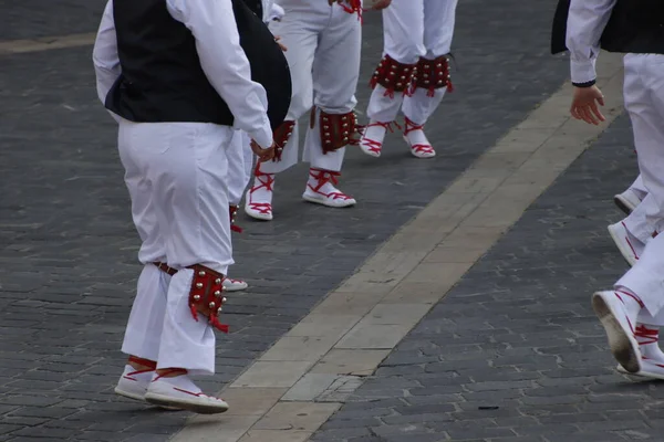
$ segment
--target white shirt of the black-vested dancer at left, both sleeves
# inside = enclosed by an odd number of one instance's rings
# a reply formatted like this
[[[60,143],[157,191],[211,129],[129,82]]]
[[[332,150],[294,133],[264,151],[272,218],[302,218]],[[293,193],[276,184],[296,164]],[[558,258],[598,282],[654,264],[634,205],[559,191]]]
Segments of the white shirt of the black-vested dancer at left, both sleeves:
[[[231,0],[165,0],[170,15],[196,39],[200,66],[245,130],[262,148],[272,145],[266,90],[251,81],[249,61],[240,46]],[[97,94],[104,102],[121,73],[113,0],[108,0],[94,44]]]

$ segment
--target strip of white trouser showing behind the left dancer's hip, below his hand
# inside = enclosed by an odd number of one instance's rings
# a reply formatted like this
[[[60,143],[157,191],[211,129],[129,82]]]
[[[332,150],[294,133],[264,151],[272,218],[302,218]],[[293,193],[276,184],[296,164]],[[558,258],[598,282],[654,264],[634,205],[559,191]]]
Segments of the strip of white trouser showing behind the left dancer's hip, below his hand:
[[[235,130],[228,149],[228,203],[239,206],[245,189],[251,179],[253,152],[251,138],[243,130]]]

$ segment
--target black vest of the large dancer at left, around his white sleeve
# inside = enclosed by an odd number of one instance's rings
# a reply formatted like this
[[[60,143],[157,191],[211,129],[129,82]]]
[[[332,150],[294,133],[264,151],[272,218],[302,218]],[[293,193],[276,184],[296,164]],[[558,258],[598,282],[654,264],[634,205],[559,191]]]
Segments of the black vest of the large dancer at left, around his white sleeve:
[[[243,0],[232,3],[251,78],[266,88],[276,128],[290,106],[288,63],[262,18]],[[122,74],[106,96],[106,108],[136,123],[234,124],[200,67],[194,35],[170,17],[165,0],[114,0],[113,15]]]

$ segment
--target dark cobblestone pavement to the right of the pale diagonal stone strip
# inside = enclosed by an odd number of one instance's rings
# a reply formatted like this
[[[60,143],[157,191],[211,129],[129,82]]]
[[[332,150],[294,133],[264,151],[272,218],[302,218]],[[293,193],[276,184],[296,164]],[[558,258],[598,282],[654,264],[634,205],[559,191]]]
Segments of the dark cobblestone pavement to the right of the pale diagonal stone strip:
[[[626,270],[605,227],[636,175],[620,117],[312,440],[662,440],[664,387],[614,371],[590,295]]]

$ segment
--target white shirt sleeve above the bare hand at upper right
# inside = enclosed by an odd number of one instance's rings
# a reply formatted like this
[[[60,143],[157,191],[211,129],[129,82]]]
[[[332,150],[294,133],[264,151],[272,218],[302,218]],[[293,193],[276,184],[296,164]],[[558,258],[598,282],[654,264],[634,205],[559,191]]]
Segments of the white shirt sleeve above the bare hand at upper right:
[[[596,80],[600,39],[616,0],[571,0],[567,27],[572,83]]]

